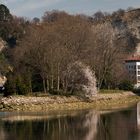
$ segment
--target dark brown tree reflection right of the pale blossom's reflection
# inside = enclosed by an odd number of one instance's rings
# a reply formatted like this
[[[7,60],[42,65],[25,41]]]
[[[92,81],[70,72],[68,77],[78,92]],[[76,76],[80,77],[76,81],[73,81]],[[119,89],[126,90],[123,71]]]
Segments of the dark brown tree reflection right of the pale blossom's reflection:
[[[132,140],[136,136],[136,111],[125,110],[100,116],[97,140]]]

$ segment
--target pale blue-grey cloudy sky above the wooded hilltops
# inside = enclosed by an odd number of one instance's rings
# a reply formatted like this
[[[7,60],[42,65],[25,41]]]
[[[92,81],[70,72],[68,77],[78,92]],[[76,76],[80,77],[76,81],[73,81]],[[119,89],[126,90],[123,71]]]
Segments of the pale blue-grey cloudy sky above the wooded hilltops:
[[[0,0],[16,16],[42,17],[45,11],[62,10],[70,14],[93,15],[97,11],[112,12],[120,8],[140,8],[140,0]]]

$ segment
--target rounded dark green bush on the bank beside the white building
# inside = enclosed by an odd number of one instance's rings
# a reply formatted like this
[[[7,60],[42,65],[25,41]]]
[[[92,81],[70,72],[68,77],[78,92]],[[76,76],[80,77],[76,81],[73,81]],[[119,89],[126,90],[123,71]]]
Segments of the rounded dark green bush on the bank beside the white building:
[[[133,84],[131,81],[129,80],[123,80],[120,84],[119,84],[119,89],[121,90],[133,90]]]

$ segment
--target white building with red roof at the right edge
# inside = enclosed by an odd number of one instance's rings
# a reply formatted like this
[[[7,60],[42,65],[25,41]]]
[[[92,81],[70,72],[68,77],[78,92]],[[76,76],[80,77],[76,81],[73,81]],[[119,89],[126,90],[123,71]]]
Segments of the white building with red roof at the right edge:
[[[125,60],[126,69],[135,88],[140,88],[140,56],[132,56]]]

